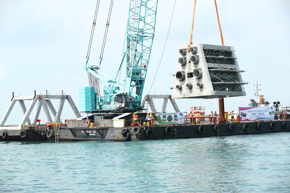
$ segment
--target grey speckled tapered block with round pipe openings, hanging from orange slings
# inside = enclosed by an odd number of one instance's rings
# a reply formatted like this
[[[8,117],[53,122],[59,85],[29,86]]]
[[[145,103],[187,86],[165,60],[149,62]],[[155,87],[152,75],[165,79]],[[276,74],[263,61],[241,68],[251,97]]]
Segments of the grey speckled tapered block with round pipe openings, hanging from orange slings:
[[[246,96],[241,72],[233,46],[180,46],[172,98]]]

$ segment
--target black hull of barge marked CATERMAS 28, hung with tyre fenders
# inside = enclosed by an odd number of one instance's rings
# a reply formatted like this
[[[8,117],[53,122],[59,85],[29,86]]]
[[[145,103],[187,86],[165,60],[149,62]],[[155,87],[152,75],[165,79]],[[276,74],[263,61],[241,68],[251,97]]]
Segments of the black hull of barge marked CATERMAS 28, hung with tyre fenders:
[[[62,127],[59,130],[59,140],[135,141],[234,136],[289,132],[289,125],[290,120],[277,120],[264,122],[154,126],[140,127],[139,129],[133,127]]]

